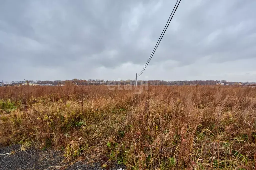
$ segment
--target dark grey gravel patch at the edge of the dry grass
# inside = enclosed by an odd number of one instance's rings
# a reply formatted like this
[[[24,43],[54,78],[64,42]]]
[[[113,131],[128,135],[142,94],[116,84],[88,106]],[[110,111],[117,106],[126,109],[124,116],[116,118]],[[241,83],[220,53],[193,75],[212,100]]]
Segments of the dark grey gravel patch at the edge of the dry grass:
[[[100,170],[100,163],[87,164],[63,162],[63,151],[29,149],[22,151],[20,145],[0,147],[0,169],[91,169]],[[124,166],[113,165],[106,169],[123,170]]]

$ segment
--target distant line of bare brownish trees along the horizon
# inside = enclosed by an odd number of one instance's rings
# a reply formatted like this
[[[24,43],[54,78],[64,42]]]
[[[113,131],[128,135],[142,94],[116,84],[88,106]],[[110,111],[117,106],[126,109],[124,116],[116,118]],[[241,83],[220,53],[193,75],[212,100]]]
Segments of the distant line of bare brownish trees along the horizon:
[[[226,80],[191,80],[191,81],[163,81],[163,80],[147,80],[147,81],[137,81],[137,85],[165,85],[165,86],[172,86],[172,85],[215,85],[216,82],[223,82],[224,84],[233,84],[235,82],[228,82]],[[125,85],[130,84],[134,85],[135,80],[100,80],[100,79],[89,79],[89,80],[82,80],[82,79],[72,79],[72,80],[24,80],[24,81],[13,81],[11,84],[22,84],[22,83],[38,83],[38,84],[52,84],[52,85],[65,85],[65,84],[77,84],[77,85]]]

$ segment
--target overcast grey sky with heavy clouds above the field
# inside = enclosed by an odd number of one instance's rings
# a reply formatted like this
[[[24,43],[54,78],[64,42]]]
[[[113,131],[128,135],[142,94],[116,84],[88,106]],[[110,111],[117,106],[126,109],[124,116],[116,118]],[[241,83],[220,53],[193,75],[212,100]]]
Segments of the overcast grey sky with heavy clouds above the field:
[[[134,79],[176,0],[1,0],[0,79]],[[182,0],[140,80],[256,81],[256,1]]]

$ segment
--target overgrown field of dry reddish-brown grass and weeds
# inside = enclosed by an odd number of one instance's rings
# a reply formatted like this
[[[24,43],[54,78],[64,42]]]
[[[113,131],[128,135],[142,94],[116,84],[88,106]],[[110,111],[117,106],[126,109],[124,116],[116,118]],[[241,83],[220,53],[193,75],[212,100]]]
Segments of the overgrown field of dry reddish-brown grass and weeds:
[[[256,89],[1,87],[0,143],[130,169],[254,169]],[[255,155],[256,156],[256,155]]]

